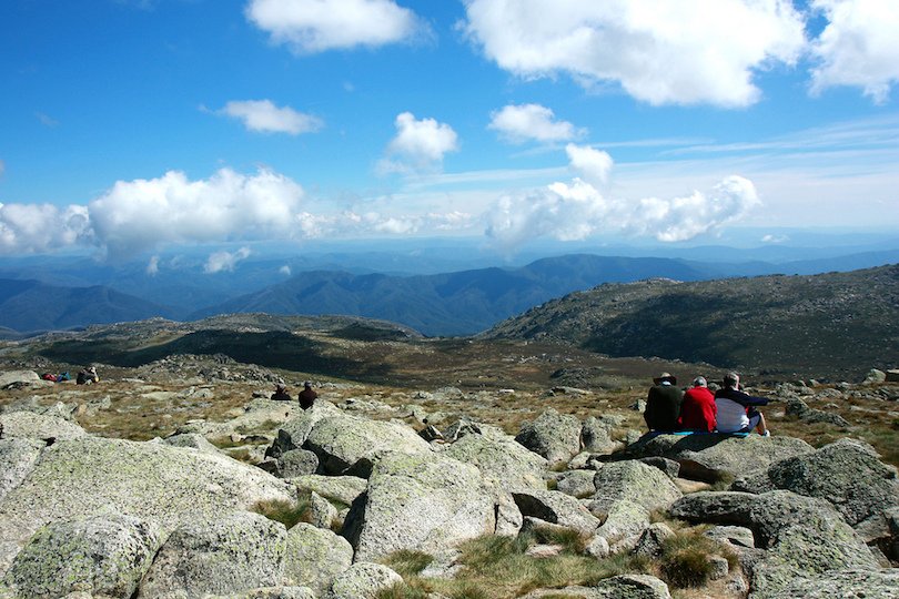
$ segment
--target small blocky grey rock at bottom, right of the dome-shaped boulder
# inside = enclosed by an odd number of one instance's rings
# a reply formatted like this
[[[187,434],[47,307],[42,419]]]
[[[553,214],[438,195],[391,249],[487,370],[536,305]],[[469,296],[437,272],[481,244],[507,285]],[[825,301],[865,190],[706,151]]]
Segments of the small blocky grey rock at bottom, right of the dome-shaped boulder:
[[[331,530],[300,522],[287,531],[283,582],[323,595],[353,564],[350,541]]]

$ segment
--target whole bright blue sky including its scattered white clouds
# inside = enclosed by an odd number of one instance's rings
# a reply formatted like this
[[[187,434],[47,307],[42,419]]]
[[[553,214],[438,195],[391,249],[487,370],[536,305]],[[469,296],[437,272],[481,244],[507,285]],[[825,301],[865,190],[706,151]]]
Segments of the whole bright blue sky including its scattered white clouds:
[[[896,31],[895,0],[9,0],[0,255],[895,229]]]

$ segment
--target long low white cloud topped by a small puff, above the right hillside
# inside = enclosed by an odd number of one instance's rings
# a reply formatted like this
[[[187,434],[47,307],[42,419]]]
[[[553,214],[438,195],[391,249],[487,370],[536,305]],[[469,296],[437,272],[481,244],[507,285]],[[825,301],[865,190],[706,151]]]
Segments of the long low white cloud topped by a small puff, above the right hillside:
[[[589,182],[605,181],[612,166],[612,160],[602,154],[569,145],[572,166],[584,172],[585,179],[501,197],[486,214],[487,236],[507,251],[536,237],[577,241],[598,233],[677,242],[734,222],[759,203],[752,183],[736,175],[709,193],[695,191],[679,197],[637,201],[606,197]],[[596,172],[587,172],[590,165]]]

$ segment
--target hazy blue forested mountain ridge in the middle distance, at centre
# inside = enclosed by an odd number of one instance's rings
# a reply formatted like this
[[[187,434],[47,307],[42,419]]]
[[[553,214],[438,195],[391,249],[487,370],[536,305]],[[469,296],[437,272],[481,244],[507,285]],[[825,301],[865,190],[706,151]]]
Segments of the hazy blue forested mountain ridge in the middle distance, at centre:
[[[194,313],[346,314],[402,323],[426,335],[468,335],[532,306],[603,282],[636,281],[666,273],[707,277],[701,268],[666,258],[568,255],[521,268],[481,268],[437,275],[304,273]]]

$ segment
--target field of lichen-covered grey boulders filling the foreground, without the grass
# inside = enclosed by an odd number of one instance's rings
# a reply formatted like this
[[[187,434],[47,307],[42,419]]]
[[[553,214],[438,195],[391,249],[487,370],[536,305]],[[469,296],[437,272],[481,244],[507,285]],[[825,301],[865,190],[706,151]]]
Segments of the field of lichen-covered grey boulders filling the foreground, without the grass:
[[[276,409],[255,402],[241,418]],[[899,479],[861,441],[626,444],[614,417],[549,409],[517,436],[465,422],[428,443],[326,400],[283,417],[249,465],[208,443],[222,425],[138,443],[55,413],[0,414],[0,598],[373,598],[402,582],[382,564],[397,550],[453,576],[466,540],[564,527],[597,560],[653,556],[674,535],[659,517],[708,525],[737,556],[733,597],[899,597]],[[261,515],[302,500],[311,522]],[[527,597],[559,595],[670,597],[636,573]]]

